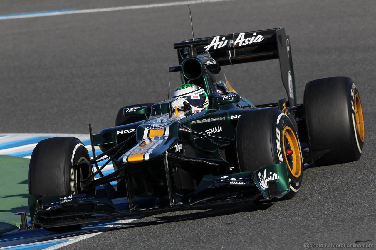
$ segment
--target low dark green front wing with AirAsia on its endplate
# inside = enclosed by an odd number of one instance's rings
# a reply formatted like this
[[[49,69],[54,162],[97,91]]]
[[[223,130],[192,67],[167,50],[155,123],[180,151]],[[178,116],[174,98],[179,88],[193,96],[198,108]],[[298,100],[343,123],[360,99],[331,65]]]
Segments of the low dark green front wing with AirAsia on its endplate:
[[[261,167],[254,172],[225,176],[206,175],[189,202],[165,207],[138,209],[138,206],[134,208],[128,203],[129,209],[124,210],[126,201],[119,206],[111,199],[100,195],[73,194],[65,197],[29,195],[32,223],[27,226],[23,221],[21,229],[34,230],[39,227],[61,227],[140,215],[205,209],[211,206],[253,202],[259,200],[261,196],[265,201],[281,198],[289,191],[287,164],[278,163]],[[128,197],[128,200],[132,199],[134,200],[134,197]],[[23,217],[26,217],[24,213],[21,214],[21,218]]]

